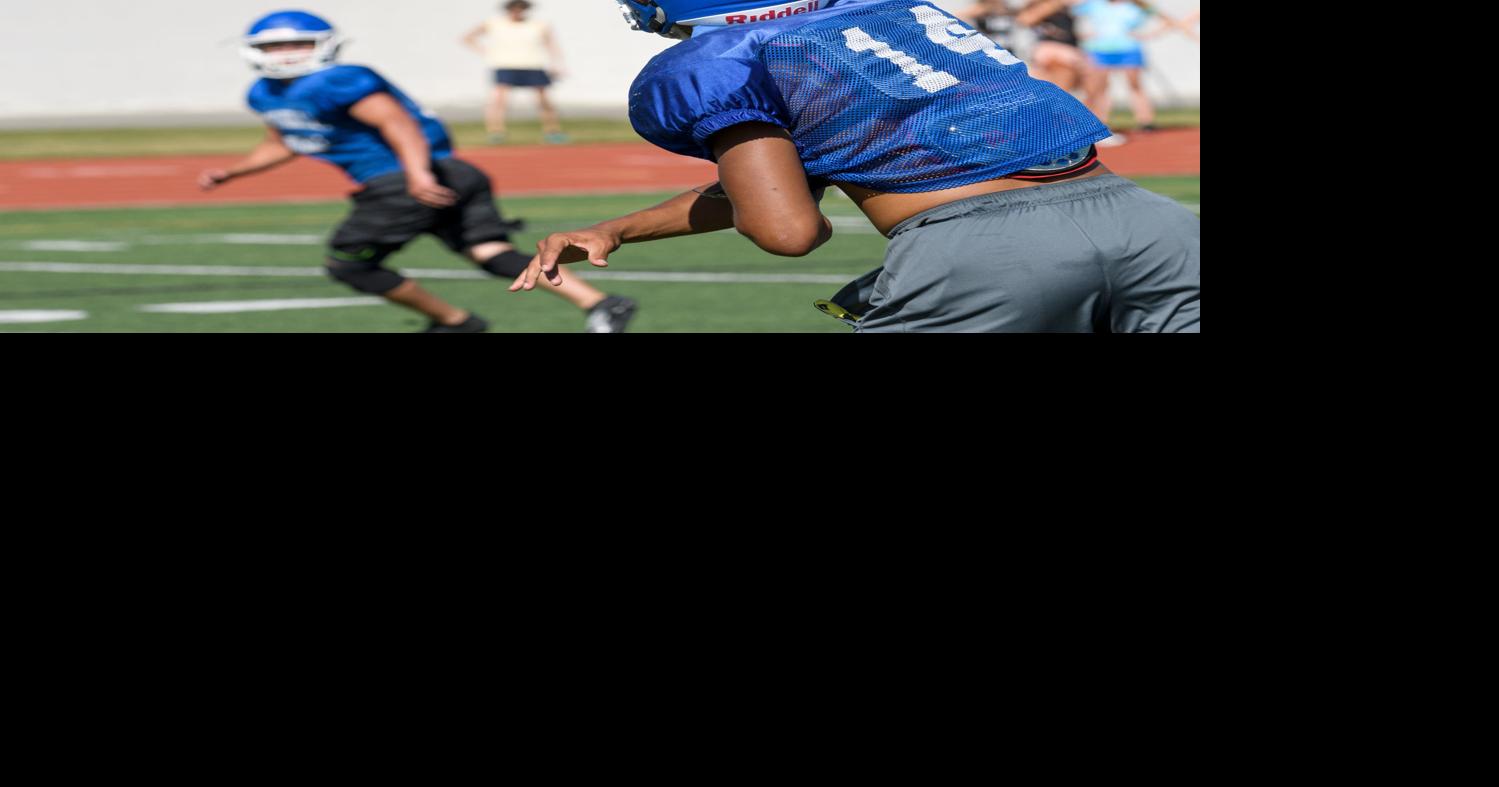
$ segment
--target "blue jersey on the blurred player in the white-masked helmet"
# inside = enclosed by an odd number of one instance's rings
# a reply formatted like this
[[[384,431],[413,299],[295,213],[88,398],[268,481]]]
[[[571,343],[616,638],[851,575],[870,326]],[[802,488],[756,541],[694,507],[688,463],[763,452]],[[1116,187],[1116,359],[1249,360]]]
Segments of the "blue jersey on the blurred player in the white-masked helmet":
[[[342,166],[358,183],[402,169],[379,129],[354,120],[349,108],[375,93],[390,93],[421,124],[432,157],[453,154],[448,129],[396,85],[364,66],[334,66],[297,79],[261,79],[250,87],[250,109],[280,130],[286,147]]]

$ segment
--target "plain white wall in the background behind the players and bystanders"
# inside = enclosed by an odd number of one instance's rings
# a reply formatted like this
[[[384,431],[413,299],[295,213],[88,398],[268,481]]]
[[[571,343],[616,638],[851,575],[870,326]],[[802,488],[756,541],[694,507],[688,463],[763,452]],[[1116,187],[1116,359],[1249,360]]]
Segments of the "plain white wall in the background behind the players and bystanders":
[[[622,114],[631,78],[669,40],[630,33],[613,0],[534,0],[558,30],[568,78],[558,102]],[[958,9],[967,0],[934,0]],[[304,7],[352,39],[345,60],[373,66],[447,117],[474,117],[487,90],[483,60],[459,37],[490,13],[481,0],[3,0],[0,127],[246,123],[252,76],[235,39],[258,15]],[[1157,0],[1184,13],[1199,0]],[[1201,48],[1171,34],[1150,43],[1147,84],[1166,103],[1195,105]],[[517,106],[525,111],[529,97]]]

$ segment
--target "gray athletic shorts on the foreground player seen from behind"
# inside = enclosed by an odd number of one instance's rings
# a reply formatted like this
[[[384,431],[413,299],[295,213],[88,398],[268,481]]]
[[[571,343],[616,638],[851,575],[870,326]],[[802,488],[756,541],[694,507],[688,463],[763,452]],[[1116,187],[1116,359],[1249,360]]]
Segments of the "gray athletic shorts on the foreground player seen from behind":
[[[959,199],[833,301],[859,333],[1201,333],[1202,222],[1118,175]]]

